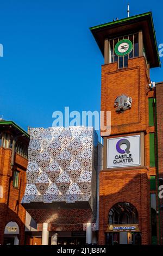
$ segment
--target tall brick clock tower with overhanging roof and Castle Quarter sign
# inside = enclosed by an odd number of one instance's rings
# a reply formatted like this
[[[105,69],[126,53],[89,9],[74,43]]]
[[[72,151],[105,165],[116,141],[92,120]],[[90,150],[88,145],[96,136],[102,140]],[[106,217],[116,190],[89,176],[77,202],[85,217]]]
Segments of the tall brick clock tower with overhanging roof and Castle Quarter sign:
[[[101,131],[98,243],[160,243],[152,13],[90,29],[104,56],[101,111],[111,112],[111,132]]]

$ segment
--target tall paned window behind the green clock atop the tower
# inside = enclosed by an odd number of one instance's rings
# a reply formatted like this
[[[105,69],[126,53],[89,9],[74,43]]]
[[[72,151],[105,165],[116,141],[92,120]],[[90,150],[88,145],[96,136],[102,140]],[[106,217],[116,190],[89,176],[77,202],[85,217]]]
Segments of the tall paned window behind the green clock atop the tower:
[[[114,48],[118,41],[123,39],[128,39],[133,44],[133,50],[126,56],[117,56],[115,54]],[[127,68],[128,59],[139,57],[139,34],[131,34],[126,36],[121,36],[120,38],[115,38],[109,40],[109,63],[118,63],[118,69]]]

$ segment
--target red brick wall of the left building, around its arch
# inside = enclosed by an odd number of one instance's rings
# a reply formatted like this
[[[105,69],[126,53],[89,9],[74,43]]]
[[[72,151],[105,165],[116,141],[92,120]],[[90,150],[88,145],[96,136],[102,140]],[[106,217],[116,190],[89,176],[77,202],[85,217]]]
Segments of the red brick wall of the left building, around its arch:
[[[15,221],[20,228],[20,245],[23,245],[26,210],[21,205],[21,200],[26,188],[28,160],[16,154],[14,168],[20,171],[18,189],[12,186],[13,170],[10,162],[11,149],[0,148],[0,185],[3,186],[3,198],[0,199],[0,244],[3,244],[5,225]]]

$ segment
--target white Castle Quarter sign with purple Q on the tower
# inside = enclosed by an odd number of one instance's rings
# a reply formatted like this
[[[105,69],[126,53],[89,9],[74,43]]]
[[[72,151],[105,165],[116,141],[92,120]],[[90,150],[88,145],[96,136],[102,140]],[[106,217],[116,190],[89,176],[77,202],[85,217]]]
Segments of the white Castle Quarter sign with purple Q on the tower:
[[[107,140],[107,168],[140,165],[140,135]]]

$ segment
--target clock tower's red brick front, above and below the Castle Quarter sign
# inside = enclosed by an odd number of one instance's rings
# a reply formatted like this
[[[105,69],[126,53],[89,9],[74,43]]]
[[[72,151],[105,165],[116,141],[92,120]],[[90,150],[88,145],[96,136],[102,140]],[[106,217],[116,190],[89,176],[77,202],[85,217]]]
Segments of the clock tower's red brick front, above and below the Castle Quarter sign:
[[[136,207],[139,212],[142,244],[151,243],[149,176],[156,175],[156,168],[149,167],[149,132],[155,132],[155,129],[154,126],[149,127],[148,97],[153,97],[154,91],[149,90],[148,83],[148,70],[144,57],[128,60],[128,68],[125,69],[117,69],[117,63],[102,66],[101,111],[111,111],[110,137],[143,132],[145,167],[101,172],[99,176],[99,243],[101,245],[105,243],[104,233],[108,225],[109,209],[118,202],[128,202]],[[131,109],[117,114],[114,101],[121,94],[132,97],[133,103]],[[104,152],[106,152],[106,143]]]

